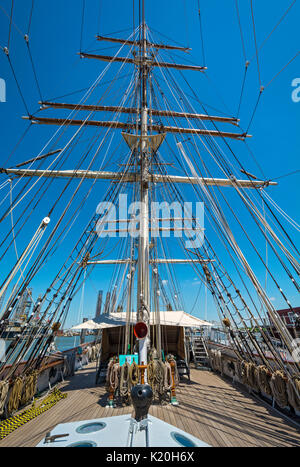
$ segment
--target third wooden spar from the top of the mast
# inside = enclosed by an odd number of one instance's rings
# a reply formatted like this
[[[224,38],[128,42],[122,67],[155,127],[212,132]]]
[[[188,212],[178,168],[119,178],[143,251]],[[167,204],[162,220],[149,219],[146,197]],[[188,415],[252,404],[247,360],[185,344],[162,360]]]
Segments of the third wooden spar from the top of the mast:
[[[120,112],[128,114],[136,114],[139,112],[138,109],[133,107],[116,107],[107,105],[86,105],[86,104],[66,104],[61,102],[39,102],[43,108],[52,107],[53,109],[68,109],[68,110],[88,110],[92,112]],[[171,110],[157,110],[151,109],[151,113],[154,116],[159,117],[175,117],[175,118],[189,118],[199,120],[213,120],[216,122],[232,123],[237,125],[239,119],[234,117],[220,117],[216,115],[205,115],[205,114],[194,114],[189,112],[176,112]]]

